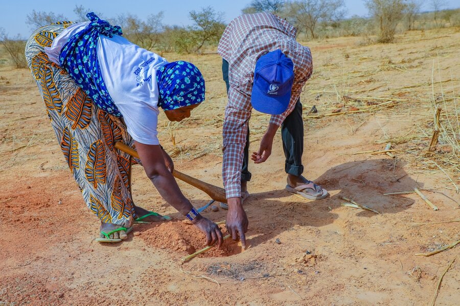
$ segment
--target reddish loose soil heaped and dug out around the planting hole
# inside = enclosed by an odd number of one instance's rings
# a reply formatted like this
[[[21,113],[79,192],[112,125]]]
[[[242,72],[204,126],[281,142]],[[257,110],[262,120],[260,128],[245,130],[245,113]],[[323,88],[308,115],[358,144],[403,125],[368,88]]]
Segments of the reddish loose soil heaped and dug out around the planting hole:
[[[225,226],[221,225],[222,234],[227,235]],[[166,248],[177,252],[192,254],[197,250],[205,247],[205,236],[191,223],[182,221],[170,221],[158,224],[141,233],[147,244],[157,247]],[[224,241],[220,249],[214,247],[209,251],[200,254],[200,257],[225,257],[238,253],[237,243],[231,239]]]

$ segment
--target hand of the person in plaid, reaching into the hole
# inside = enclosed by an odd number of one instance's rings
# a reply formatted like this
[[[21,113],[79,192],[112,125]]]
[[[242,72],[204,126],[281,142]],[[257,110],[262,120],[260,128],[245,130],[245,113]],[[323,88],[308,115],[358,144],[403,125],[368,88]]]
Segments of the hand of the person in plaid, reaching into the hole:
[[[246,249],[246,236],[244,233],[247,232],[247,226],[249,221],[247,220],[246,212],[241,204],[241,197],[233,197],[227,199],[228,212],[225,226],[233,240],[238,240],[238,236],[241,240],[243,249]]]

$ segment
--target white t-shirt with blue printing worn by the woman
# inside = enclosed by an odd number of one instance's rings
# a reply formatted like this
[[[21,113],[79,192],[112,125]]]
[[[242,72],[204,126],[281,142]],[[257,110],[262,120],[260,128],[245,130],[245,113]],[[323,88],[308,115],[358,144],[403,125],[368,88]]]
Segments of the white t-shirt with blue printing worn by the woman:
[[[50,60],[59,64],[61,49],[68,38],[83,30],[88,23],[71,25],[53,40],[51,47],[45,47]],[[111,38],[100,35],[97,54],[102,79],[123,115],[128,133],[137,142],[159,144],[156,70],[168,62],[119,35]]]

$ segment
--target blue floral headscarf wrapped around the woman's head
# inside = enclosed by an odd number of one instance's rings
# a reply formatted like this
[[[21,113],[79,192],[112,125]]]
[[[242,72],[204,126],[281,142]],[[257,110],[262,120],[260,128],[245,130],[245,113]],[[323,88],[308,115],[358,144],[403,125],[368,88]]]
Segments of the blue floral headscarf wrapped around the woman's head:
[[[200,70],[185,61],[168,63],[156,71],[158,106],[165,111],[204,101],[204,79]]]

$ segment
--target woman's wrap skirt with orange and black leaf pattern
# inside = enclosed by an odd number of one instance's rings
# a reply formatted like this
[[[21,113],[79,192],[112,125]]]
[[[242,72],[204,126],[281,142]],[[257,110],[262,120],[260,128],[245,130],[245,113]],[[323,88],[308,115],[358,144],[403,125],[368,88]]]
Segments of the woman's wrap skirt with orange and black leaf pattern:
[[[97,108],[70,75],[44,53],[73,22],[56,22],[35,31],[26,59],[56,138],[87,207],[102,222],[129,227],[136,218],[131,197],[128,154],[114,143],[133,146],[120,118]]]

